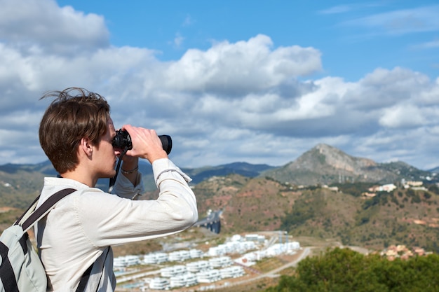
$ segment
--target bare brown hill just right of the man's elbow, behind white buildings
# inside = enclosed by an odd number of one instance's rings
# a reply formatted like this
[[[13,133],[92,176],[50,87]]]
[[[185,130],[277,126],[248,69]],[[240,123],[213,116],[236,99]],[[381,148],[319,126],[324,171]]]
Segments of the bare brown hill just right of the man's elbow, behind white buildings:
[[[222,209],[225,232],[278,230],[299,193],[272,179],[239,175],[216,177],[194,187],[201,216]]]

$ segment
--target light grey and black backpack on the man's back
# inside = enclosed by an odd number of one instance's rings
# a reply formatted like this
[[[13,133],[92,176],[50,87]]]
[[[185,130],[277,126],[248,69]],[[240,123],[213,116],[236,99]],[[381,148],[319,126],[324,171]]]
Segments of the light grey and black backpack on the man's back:
[[[0,236],[0,292],[46,292],[47,277],[43,264],[30,242],[27,230],[46,216],[56,202],[73,193],[60,190],[36,208],[39,196],[15,223]]]

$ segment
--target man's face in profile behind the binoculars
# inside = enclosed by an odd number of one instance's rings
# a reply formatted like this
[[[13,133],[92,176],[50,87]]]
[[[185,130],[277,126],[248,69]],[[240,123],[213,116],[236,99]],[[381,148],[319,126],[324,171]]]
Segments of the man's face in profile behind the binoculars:
[[[109,118],[107,120],[107,133],[104,134],[98,147],[95,147],[93,151],[96,164],[96,171],[100,178],[111,178],[116,175],[116,153],[114,151],[112,141],[116,136],[116,130],[114,130],[113,120]]]

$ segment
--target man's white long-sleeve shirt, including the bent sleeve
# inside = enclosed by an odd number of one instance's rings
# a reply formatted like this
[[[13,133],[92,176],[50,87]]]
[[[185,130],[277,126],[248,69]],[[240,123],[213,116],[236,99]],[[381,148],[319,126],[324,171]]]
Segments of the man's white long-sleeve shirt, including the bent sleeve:
[[[171,235],[196,223],[198,211],[187,184],[189,177],[168,159],[156,160],[152,167],[160,190],[156,200],[128,199],[143,191],[140,174],[137,186],[119,174],[113,190],[117,195],[72,179],[44,179],[39,205],[58,190],[77,190],[55,204],[37,224],[37,246],[48,275],[48,291],[75,291],[96,260],[86,291],[114,291],[113,253],[108,246]],[[101,278],[95,272],[102,265]]]

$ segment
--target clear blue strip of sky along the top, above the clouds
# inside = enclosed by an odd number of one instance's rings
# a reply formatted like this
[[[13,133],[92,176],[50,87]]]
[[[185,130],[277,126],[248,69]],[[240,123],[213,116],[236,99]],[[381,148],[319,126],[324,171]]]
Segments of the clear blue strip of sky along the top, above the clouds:
[[[273,46],[312,46],[323,71],[357,81],[377,67],[437,76],[439,4],[435,1],[58,1],[103,15],[114,46],[151,48],[160,60],[214,41],[265,34]],[[428,46],[432,48],[424,48]],[[436,48],[436,50],[434,49]]]

